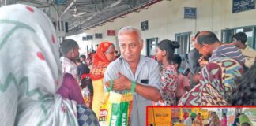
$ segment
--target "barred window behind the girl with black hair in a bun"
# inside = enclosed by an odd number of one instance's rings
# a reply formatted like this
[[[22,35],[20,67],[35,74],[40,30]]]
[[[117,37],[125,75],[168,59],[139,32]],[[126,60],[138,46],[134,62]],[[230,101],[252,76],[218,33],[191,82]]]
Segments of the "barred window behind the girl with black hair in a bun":
[[[188,54],[190,51],[190,32],[176,34],[175,40],[180,45],[178,50],[175,51],[175,54],[179,54],[180,56]]]

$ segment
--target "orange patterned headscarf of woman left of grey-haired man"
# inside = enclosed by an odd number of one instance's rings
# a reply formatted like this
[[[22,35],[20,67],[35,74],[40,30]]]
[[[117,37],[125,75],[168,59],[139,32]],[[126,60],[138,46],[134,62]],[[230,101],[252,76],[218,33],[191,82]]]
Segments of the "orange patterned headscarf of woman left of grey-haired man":
[[[102,42],[98,46],[98,49],[96,50],[96,54],[94,54],[92,58],[92,70],[91,70],[91,77],[92,80],[99,80],[103,78],[105,69],[107,68],[107,65],[110,63],[110,61],[107,60],[107,57],[105,56],[105,52],[108,50],[108,48],[113,45],[110,42]]]

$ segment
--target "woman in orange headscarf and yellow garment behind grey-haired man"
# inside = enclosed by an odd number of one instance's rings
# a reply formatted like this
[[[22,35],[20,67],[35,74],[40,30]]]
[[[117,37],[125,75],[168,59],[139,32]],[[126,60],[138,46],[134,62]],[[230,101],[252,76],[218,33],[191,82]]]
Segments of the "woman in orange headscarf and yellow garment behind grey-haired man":
[[[115,60],[115,57],[114,44],[110,42],[102,42],[92,58],[92,70],[90,73],[93,85],[92,110],[96,113],[98,118],[100,114],[100,105],[102,98],[104,97],[104,72],[105,69],[107,69],[107,65]]]

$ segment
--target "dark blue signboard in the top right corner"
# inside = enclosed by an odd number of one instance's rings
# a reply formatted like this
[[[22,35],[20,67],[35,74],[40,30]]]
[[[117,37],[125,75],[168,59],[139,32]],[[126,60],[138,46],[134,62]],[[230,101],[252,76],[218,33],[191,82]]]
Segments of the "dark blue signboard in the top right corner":
[[[233,0],[232,13],[239,13],[250,9],[255,9],[254,0]]]

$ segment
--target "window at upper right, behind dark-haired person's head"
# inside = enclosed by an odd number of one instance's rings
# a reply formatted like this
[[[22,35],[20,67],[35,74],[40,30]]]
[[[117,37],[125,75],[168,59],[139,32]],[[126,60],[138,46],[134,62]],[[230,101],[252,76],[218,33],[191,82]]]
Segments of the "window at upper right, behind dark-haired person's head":
[[[221,31],[221,41],[224,43],[232,42],[232,35],[238,32],[244,32],[247,34],[247,46],[256,49],[255,34],[256,26],[246,26],[240,28],[227,28]]]

